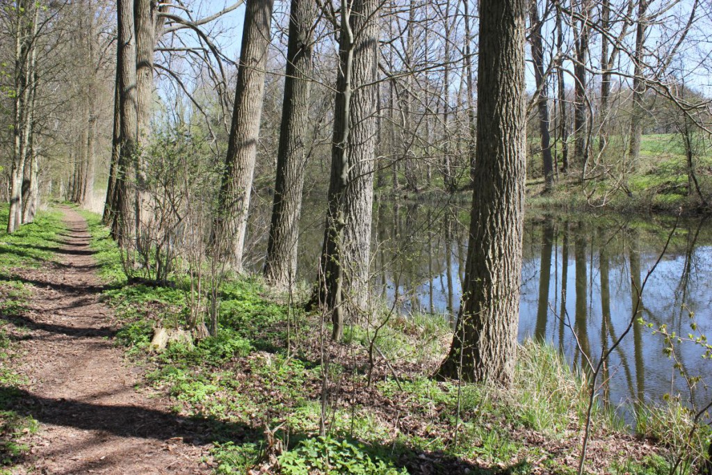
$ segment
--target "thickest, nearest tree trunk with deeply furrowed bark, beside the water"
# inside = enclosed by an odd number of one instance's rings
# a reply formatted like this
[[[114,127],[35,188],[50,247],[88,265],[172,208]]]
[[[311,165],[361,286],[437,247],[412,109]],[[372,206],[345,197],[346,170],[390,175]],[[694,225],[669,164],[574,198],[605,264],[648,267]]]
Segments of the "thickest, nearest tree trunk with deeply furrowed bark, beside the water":
[[[525,0],[482,0],[477,151],[463,305],[443,377],[511,382],[524,211]]]

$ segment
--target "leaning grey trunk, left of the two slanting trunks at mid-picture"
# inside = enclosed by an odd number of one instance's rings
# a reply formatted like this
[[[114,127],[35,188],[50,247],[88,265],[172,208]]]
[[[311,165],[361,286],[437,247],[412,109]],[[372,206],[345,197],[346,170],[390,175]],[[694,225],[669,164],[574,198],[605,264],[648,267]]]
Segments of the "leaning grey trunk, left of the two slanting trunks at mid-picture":
[[[215,255],[242,269],[247,212],[257,155],[260,119],[270,41],[273,0],[248,0],[242,32],[235,105],[225,169],[219,193],[219,211],[213,223]]]

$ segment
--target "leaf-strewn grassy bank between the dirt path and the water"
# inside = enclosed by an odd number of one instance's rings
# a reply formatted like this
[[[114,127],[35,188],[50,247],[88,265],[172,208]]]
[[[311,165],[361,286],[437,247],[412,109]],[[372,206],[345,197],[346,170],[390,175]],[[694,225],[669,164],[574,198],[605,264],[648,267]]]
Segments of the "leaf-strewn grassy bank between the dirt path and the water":
[[[222,288],[218,336],[150,353],[156,325],[184,325],[186,293],[126,285],[98,216],[84,216],[100,272],[113,284],[105,298],[122,325],[117,344],[142,368],[145,390],[166,392],[176,414],[207,424],[216,473],[575,471],[587,383],[553,348],[522,345],[506,390],[436,382],[430,375],[451,339],[441,320],[383,310],[334,345],[320,315],[289,306],[253,277]],[[646,414],[644,434],[633,434],[614,412],[595,407],[587,471],[667,473],[671,411]]]

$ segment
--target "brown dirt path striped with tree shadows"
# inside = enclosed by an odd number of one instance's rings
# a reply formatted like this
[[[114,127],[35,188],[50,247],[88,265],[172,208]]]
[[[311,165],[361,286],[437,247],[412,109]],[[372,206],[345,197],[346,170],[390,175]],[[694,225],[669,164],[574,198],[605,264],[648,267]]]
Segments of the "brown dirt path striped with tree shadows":
[[[38,419],[30,473],[207,474],[197,428],[167,410],[167,401],[134,389],[140,368],[115,348],[112,313],[99,301],[85,220],[62,209],[68,231],[55,261],[17,273],[35,286],[22,324],[20,370],[26,401]],[[153,396],[153,397],[152,397]],[[36,469],[36,472],[33,472]]]

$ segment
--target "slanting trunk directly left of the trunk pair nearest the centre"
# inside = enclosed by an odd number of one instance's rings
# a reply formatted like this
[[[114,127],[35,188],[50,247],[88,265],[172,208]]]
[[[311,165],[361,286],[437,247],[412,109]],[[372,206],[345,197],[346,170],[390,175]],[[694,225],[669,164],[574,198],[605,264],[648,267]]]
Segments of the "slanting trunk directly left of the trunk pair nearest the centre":
[[[277,178],[264,266],[265,278],[277,287],[291,286],[297,271],[315,16],[314,0],[292,0]]]

